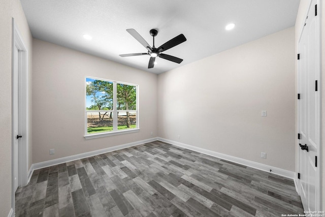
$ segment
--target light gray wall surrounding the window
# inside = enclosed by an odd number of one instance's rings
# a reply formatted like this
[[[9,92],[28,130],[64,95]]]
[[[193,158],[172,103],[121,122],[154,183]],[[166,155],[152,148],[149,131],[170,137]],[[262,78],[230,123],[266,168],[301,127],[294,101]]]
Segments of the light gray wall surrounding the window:
[[[33,47],[33,163],[157,136],[156,74],[37,39]],[[85,76],[139,85],[140,132],[85,140]]]

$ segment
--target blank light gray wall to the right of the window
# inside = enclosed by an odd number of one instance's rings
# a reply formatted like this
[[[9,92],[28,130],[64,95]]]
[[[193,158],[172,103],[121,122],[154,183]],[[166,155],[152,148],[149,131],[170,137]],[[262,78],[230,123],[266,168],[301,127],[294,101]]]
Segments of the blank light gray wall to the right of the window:
[[[295,171],[293,27],[159,74],[158,99],[159,137]]]

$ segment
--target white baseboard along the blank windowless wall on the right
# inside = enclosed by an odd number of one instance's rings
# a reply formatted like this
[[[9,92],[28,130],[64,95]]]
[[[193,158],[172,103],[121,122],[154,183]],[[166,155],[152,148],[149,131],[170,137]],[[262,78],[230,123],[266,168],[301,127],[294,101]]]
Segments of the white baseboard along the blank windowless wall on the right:
[[[272,166],[269,166],[269,165],[265,165],[265,164],[245,160],[245,159],[242,159],[242,158],[233,157],[233,156],[230,156],[228,154],[223,154],[223,153],[219,153],[219,152],[216,152],[216,151],[211,151],[211,150],[204,149],[204,148],[199,148],[199,147],[192,146],[192,145],[187,145],[187,144],[184,144],[184,143],[181,143],[181,142],[176,142],[176,141],[169,140],[169,139],[164,139],[164,138],[160,138],[160,137],[158,137],[157,139],[159,141],[161,141],[161,142],[167,142],[167,143],[172,144],[172,145],[187,148],[187,149],[190,149],[190,150],[193,150],[193,151],[198,151],[200,153],[204,153],[204,154],[207,154],[209,156],[224,159],[224,160],[227,160],[227,161],[231,161],[231,162],[234,162],[234,163],[237,163],[237,164],[241,164],[241,165],[245,165],[245,166],[252,167],[252,168],[255,168],[255,169],[263,170],[263,171],[266,171],[266,172],[270,172],[270,170],[272,170],[272,173],[283,176],[283,177],[286,177],[286,178],[290,178],[290,179],[295,180],[295,177],[296,177],[295,172],[291,172],[291,171],[284,170],[284,169],[281,169],[281,168],[272,167]],[[297,190],[297,187],[296,187],[296,190]]]

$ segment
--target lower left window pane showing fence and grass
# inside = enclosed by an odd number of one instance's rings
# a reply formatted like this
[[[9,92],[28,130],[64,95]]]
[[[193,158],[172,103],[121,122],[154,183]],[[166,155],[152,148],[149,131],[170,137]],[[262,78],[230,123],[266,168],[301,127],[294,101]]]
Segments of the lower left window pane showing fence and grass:
[[[87,133],[113,131],[113,112],[87,112]]]

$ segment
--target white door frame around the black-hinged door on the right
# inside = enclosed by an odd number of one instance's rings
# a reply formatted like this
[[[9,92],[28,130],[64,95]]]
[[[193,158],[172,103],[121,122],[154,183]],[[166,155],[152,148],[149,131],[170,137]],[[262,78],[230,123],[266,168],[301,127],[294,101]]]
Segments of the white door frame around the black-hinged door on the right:
[[[299,36],[299,40],[298,40],[298,53],[300,53],[300,46],[299,46],[299,44],[300,44],[300,40],[301,40],[301,38],[302,38],[302,35],[303,35],[303,32],[304,32],[304,29],[305,29],[305,23],[306,23],[306,20],[307,20],[307,16],[308,16],[308,12],[309,12],[309,10],[312,10],[312,1],[313,0],[310,0],[309,1],[309,4],[308,4],[308,10],[305,12],[305,19],[304,19],[304,23],[302,24],[302,30],[301,30],[301,33],[300,33],[300,36]],[[320,194],[320,192],[321,192],[321,179],[322,179],[322,177],[321,177],[321,170],[322,170],[322,154],[321,154],[321,150],[322,150],[322,140],[321,140],[321,119],[322,119],[322,114],[321,114],[321,101],[320,101],[320,99],[321,99],[321,95],[322,95],[322,92],[321,92],[321,85],[322,85],[322,77],[321,77],[321,48],[320,48],[320,45],[321,45],[321,16],[322,16],[322,10],[321,10],[321,8],[322,8],[322,5],[321,5],[321,1],[319,1],[319,0],[316,0],[316,2],[317,2],[317,16],[318,16],[318,33],[317,33],[317,35],[318,35],[318,47],[319,47],[319,53],[318,53],[318,69],[319,69],[319,75],[318,75],[318,88],[317,88],[317,91],[319,92],[319,94],[318,94],[318,96],[317,96],[317,103],[318,103],[318,116],[319,116],[319,120],[318,120],[318,124],[317,124],[317,131],[318,131],[318,141],[319,141],[319,143],[318,143],[318,147],[317,147],[317,167],[318,167],[318,171],[317,171],[317,185],[316,185],[316,189],[318,190],[318,192],[319,192],[319,194],[317,195],[317,198],[316,198],[316,208],[318,209],[318,210],[320,210],[320,207],[321,207],[321,194]],[[298,64],[298,78],[297,78],[297,81],[298,81],[298,85],[297,85],[297,92],[298,93],[300,93],[300,71],[301,71],[301,69],[300,69],[300,63],[299,63],[299,60],[298,60],[298,62],[297,62],[297,64]],[[298,133],[300,133],[300,118],[299,118],[299,116],[300,116],[300,109],[299,109],[300,107],[299,107],[299,102],[297,103],[297,111],[298,111],[298,113],[297,113],[297,120],[298,120],[298,126],[297,126],[297,129],[298,129]],[[299,148],[299,145],[298,145],[298,143],[299,143],[299,141],[296,143],[296,147],[298,148],[298,151],[297,151],[297,154],[298,154],[298,156],[297,156],[297,159],[298,159],[298,161],[297,161],[297,168],[298,168],[298,172],[297,173],[299,173],[300,172],[300,148]],[[297,174],[297,176],[298,176],[298,174]],[[298,178],[296,178],[296,180],[297,180],[297,185],[298,185],[298,188],[297,188],[297,191],[298,191],[298,194],[300,195],[301,194],[301,192],[300,192],[300,179],[298,179]]]

